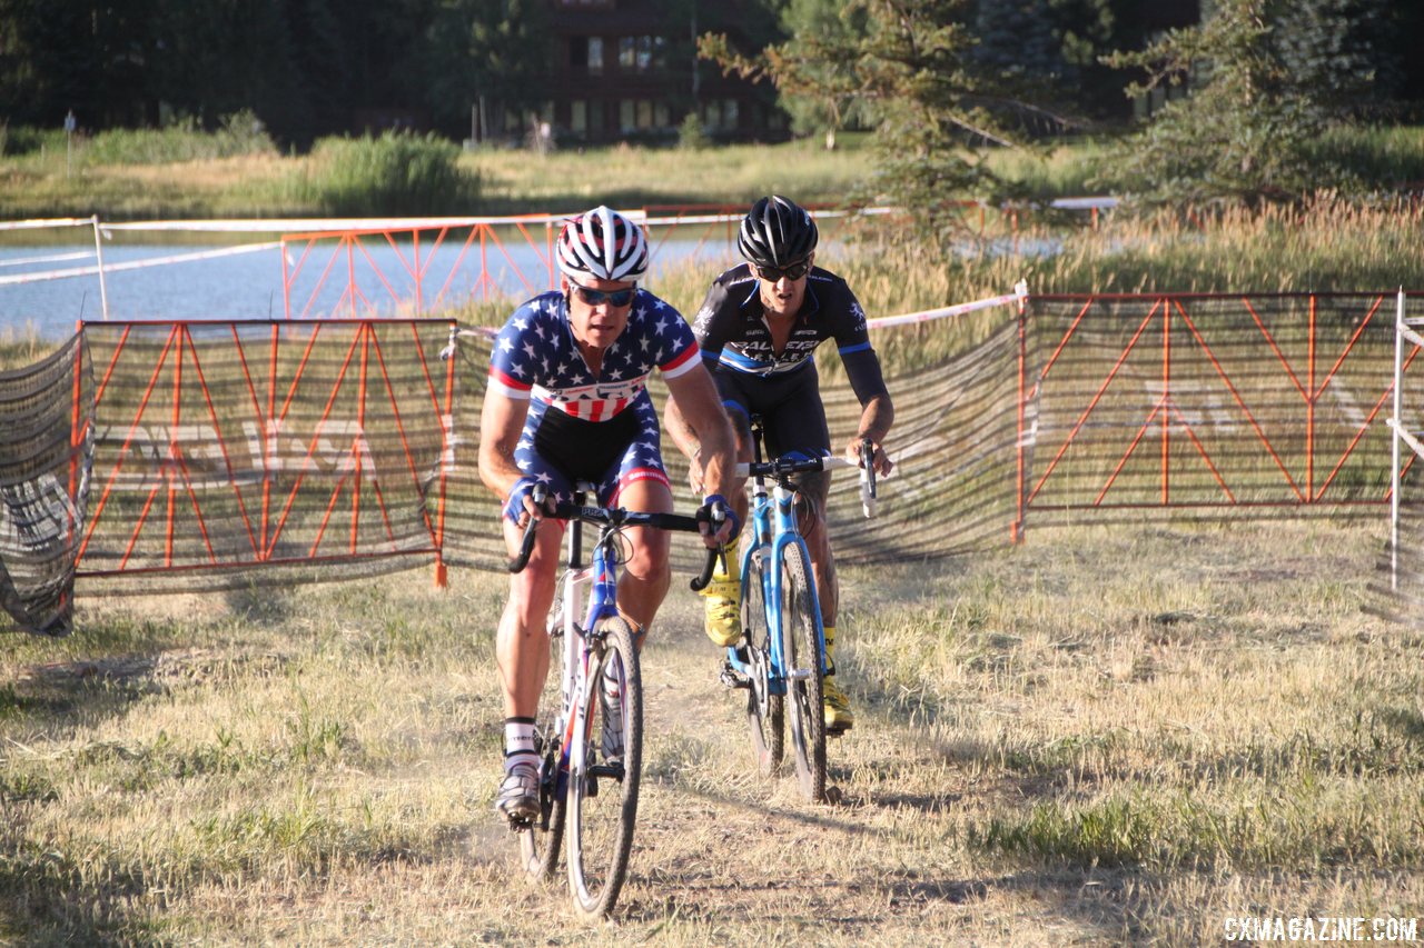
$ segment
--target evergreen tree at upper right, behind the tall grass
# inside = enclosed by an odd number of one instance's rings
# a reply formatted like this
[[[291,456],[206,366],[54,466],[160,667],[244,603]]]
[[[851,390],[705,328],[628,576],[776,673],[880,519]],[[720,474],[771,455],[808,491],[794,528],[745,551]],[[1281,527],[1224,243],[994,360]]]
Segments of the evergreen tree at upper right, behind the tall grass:
[[[1314,4],[1327,20],[1336,16],[1329,6]],[[1286,28],[1296,16],[1299,4],[1284,0],[1219,0],[1200,26],[1109,57],[1145,70],[1129,95],[1188,88],[1118,152],[1119,182],[1152,201],[1246,204],[1346,184],[1344,171],[1314,158],[1310,145],[1333,114],[1329,77],[1349,56],[1306,56],[1310,44]]]

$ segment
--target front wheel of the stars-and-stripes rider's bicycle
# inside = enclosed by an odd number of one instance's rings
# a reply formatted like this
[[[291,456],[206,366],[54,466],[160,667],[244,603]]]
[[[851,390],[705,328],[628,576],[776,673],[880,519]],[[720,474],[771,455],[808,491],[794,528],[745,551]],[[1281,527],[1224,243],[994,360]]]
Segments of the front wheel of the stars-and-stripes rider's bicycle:
[[[575,912],[585,920],[608,915],[618,901],[628,874],[642,774],[642,675],[632,628],[621,618],[604,619],[597,625],[594,641],[600,645],[590,662],[592,686],[580,696],[588,727],[574,736],[587,743],[584,759],[590,764],[584,773],[570,770],[565,827],[568,887]],[[622,669],[621,764],[605,760],[602,749],[607,716],[601,700],[602,676],[609,666]]]

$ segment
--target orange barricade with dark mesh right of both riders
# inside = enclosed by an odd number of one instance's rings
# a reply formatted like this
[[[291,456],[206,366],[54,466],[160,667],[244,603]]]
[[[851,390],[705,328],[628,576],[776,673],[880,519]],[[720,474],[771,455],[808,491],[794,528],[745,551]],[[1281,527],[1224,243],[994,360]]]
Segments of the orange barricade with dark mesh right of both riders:
[[[1014,537],[1034,511],[1340,514],[1387,502],[1377,421],[1393,394],[1391,300],[1032,297],[1025,333],[1042,335],[1047,356],[1030,379],[1021,350]]]

